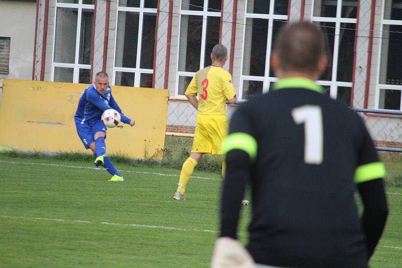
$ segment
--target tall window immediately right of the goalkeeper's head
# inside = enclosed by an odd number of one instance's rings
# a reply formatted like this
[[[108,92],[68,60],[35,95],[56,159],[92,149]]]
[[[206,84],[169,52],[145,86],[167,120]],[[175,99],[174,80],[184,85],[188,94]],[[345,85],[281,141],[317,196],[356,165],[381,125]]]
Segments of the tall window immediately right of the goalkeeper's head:
[[[331,97],[350,104],[357,0],[314,0],[312,21],[321,27],[328,56],[318,83]]]

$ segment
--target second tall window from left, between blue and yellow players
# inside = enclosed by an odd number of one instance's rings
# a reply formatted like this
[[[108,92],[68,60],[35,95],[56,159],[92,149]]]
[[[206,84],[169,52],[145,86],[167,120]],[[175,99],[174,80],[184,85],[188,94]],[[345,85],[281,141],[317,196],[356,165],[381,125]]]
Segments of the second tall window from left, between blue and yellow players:
[[[152,87],[157,0],[120,0],[113,84]]]

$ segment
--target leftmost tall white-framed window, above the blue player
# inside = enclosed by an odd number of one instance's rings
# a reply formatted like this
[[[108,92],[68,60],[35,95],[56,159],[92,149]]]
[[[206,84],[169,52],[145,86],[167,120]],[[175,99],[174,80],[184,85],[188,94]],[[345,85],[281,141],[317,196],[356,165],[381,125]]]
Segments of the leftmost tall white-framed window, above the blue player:
[[[90,83],[94,0],[57,0],[52,81]]]

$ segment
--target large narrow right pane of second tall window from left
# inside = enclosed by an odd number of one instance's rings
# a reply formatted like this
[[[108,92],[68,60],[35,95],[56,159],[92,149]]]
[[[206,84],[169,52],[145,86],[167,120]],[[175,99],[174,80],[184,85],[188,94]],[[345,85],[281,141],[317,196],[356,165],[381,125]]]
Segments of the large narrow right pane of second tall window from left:
[[[154,68],[155,25],[156,14],[144,14],[140,62],[144,69]]]

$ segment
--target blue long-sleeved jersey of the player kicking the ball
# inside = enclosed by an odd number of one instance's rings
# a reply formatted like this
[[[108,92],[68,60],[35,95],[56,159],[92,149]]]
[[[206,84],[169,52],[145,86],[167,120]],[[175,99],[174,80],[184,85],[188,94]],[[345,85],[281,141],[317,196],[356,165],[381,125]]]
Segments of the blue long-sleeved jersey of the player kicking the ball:
[[[129,124],[131,119],[122,113],[119,105],[112,96],[112,89],[108,86],[105,94],[96,91],[95,85],[85,88],[84,93],[79,98],[78,108],[75,112],[74,120],[76,123],[93,123],[100,120],[102,113],[107,109],[115,109],[121,115],[121,121]]]

